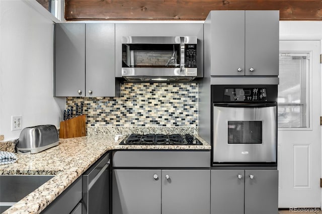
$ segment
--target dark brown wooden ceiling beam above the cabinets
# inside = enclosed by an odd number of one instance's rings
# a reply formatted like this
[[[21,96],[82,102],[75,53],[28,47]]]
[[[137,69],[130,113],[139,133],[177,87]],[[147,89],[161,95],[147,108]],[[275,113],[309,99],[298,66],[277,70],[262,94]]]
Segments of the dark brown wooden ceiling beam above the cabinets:
[[[280,20],[322,20],[313,0],[65,0],[68,20],[205,20],[212,10],[279,10]]]

